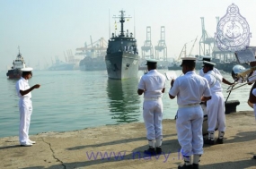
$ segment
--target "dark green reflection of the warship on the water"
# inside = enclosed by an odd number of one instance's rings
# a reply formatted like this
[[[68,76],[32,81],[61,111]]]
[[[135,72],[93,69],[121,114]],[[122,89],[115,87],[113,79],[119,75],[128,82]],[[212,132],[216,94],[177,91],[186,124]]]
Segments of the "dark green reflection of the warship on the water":
[[[140,99],[137,95],[137,83],[137,79],[108,80],[110,115],[117,123],[139,121]]]

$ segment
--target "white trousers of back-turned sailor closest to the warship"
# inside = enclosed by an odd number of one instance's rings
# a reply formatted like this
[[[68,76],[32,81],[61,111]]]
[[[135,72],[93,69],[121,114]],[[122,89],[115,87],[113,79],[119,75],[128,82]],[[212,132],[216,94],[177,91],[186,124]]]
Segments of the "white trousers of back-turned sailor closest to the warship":
[[[163,139],[163,102],[161,98],[144,101],[143,118],[146,126],[146,139]]]

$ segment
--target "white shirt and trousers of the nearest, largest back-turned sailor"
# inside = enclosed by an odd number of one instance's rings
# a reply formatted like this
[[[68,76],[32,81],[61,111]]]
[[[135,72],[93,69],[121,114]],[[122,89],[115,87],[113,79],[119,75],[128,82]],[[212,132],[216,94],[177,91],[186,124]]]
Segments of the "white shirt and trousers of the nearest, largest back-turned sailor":
[[[211,96],[207,80],[196,72],[187,72],[174,81],[169,94],[177,96],[179,105],[176,130],[182,155],[202,155],[204,114],[199,103],[202,96]]]

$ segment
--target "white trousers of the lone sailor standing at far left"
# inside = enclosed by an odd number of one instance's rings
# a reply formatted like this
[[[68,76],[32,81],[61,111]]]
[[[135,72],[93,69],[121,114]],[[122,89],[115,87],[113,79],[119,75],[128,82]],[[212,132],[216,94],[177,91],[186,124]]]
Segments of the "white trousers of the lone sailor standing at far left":
[[[20,110],[20,130],[19,139],[20,143],[26,143],[29,139],[29,130],[31,124],[31,114],[32,114],[32,103],[29,98],[20,98],[19,101]]]

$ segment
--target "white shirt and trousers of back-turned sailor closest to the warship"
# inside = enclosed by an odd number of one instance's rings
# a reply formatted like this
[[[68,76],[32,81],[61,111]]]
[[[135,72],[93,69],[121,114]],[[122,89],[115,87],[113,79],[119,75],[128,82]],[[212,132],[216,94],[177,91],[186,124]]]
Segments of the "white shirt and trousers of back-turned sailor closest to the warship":
[[[138,83],[138,89],[144,89],[143,118],[146,126],[146,139],[163,139],[162,120],[163,102],[162,90],[165,88],[165,77],[156,70],[143,75]]]

